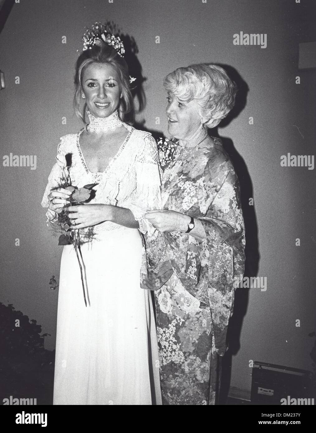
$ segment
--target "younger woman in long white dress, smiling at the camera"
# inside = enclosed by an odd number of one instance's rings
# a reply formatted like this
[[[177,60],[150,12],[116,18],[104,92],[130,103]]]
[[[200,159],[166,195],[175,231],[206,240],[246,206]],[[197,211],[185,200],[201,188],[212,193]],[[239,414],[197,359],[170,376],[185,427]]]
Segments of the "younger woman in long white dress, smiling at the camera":
[[[117,52],[100,39],[76,65],[75,108],[82,98],[89,124],[61,137],[42,200],[49,220],[69,204],[70,191],[54,190],[68,153],[72,184],[98,184],[95,198],[70,214],[81,237],[93,227],[81,245],[87,307],[75,249],[62,252],[53,404],[161,404],[153,305],[140,288],[140,232],[154,234],[143,216],[161,208],[156,142],[123,122],[132,104],[127,65],[120,43]]]

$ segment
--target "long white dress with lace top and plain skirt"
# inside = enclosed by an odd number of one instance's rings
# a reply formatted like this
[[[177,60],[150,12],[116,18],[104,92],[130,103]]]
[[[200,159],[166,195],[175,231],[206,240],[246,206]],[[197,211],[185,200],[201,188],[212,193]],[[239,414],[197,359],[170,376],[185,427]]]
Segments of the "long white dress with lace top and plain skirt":
[[[161,208],[156,142],[149,133],[124,126],[128,136],[103,173],[92,173],[85,163],[82,130],[61,137],[58,154],[72,154],[73,185],[99,184],[91,203],[129,208],[140,231],[152,235],[143,215]],[[60,177],[55,164],[43,207]],[[46,215],[56,216],[50,210]],[[75,249],[67,245],[62,252],[53,404],[161,404],[153,304],[150,291],[140,288],[140,231],[108,221],[93,230],[92,242],[81,246],[87,307]],[[80,229],[81,235],[86,232]]]

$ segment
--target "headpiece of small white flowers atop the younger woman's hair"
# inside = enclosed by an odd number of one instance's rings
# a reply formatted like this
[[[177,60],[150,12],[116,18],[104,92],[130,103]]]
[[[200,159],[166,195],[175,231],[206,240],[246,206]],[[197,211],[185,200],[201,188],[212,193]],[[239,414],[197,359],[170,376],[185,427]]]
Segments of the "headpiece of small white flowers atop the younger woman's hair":
[[[93,45],[98,45],[98,40],[111,45],[117,54],[124,57],[124,45],[119,36],[114,36],[113,33],[117,33],[119,30],[113,23],[113,21],[107,21],[105,24],[94,23],[91,29],[87,29],[82,37],[83,41],[83,51],[88,48],[92,48]]]

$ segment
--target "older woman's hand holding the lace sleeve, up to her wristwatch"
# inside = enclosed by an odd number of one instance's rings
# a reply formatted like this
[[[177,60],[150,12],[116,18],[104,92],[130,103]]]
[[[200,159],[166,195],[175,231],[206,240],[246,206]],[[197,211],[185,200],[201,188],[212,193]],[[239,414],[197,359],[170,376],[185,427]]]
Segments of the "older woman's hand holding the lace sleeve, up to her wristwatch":
[[[191,217],[175,210],[148,210],[145,218],[159,232],[186,232]]]

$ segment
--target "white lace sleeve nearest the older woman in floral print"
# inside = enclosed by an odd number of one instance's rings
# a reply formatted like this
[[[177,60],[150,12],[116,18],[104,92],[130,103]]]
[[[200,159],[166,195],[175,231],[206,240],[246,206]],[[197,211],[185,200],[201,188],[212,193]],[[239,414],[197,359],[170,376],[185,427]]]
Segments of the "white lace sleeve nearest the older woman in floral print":
[[[147,210],[162,209],[160,166],[156,141],[148,134],[136,158],[136,188],[130,197],[129,209],[139,221],[140,232],[153,236],[155,228],[144,218]]]

